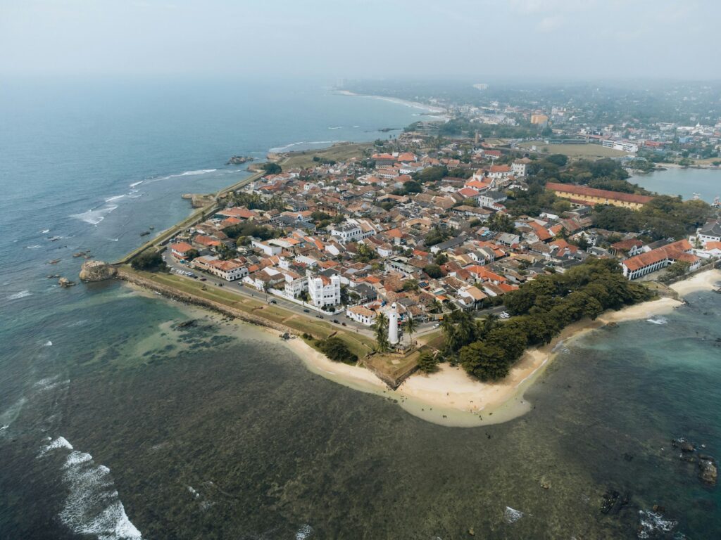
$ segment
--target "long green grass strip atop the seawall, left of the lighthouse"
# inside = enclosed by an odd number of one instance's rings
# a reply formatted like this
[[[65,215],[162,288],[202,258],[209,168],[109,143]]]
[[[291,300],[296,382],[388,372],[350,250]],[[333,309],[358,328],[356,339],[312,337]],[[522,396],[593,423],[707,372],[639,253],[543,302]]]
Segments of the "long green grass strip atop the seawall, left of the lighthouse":
[[[206,300],[212,300],[213,302],[218,302],[218,304],[257,315],[274,323],[286,325],[288,328],[292,328],[300,333],[309,333],[316,338],[327,338],[335,333],[337,337],[345,341],[348,348],[350,348],[354,354],[358,355],[358,358],[366,356],[366,354],[373,350],[373,346],[375,345],[375,342],[371,338],[368,338],[368,336],[342,330],[324,320],[304,317],[291,310],[286,310],[283,307],[266,304],[262,300],[255,300],[245,297],[242,294],[236,294],[231,289],[226,289],[225,287],[220,288],[205,285],[205,290],[203,290],[203,282],[190,281],[175,274],[155,274],[145,271],[136,271],[136,273],[158,284],[173,287],[179,291],[194,294]]]

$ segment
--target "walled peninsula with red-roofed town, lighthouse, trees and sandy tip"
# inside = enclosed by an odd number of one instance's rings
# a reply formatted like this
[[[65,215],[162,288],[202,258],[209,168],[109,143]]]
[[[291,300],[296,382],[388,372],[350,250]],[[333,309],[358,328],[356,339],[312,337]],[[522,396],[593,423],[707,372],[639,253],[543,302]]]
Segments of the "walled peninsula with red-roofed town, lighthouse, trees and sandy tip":
[[[478,426],[529,410],[561,343],[681,305],[668,284],[687,274],[721,278],[715,210],[645,192],[616,161],[410,130],[269,157],[84,279],[265,326],[323,377]],[[623,190],[588,187],[608,178]]]

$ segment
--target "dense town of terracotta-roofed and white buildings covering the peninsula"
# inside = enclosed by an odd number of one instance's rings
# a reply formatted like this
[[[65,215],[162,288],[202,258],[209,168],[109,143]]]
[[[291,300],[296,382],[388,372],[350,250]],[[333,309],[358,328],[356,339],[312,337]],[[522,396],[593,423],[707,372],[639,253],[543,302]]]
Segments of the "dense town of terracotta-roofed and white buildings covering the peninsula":
[[[391,305],[400,323],[502,305],[504,294],[534,276],[563,273],[591,256],[617,258],[624,275],[638,279],[680,261],[693,271],[721,255],[715,220],[690,240],[651,243],[594,226],[593,208],[577,197],[559,214],[511,217],[506,193],[528,189],[528,158],[498,165],[494,150],[478,145],[464,162],[453,144],[431,156],[407,136],[404,143],[415,151],[262,176],[177,234],[169,254],[176,266],[364,326]],[[464,177],[417,181],[438,169]],[[634,209],[653,199],[606,190],[600,197]]]

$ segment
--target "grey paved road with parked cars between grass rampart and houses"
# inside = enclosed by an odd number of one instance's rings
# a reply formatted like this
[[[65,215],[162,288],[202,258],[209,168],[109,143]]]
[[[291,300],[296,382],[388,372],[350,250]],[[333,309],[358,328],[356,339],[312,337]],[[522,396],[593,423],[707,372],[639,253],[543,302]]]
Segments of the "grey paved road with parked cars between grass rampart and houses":
[[[254,287],[248,287],[245,284],[242,284],[240,281],[236,282],[226,282],[225,279],[221,279],[217,276],[213,276],[213,274],[208,274],[203,271],[200,271],[199,269],[192,269],[188,268],[185,264],[180,264],[177,261],[172,258],[168,254],[167,251],[163,253],[163,259],[165,263],[174,270],[180,270],[180,271],[191,271],[195,275],[203,276],[206,278],[205,283],[210,284],[213,287],[218,287],[218,285],[222,285],[223,287],[229,288],[232,292],[235,294],[240,294],[244,297],[253,298],[255,300],[260,300],[262,302],[266,301],[266,294],[265,292],[257,291]],[[192,281],[193,278],[182,276],[186,279],[190,279]],[[275,296],[274,294],[268,294],[267,295],[267,302],[270,302],[271,300],[275,300],[275,305],[278,305],[280,307],[283,307],[283,309],[286,309],[291,312],[295,312],[298,315],[301,315],[303,317],[307,318],[313,318],[317,312],[310,310],[310,312],[305,312],[307,308],[296,304],[295,302],[290,302],[289,300],[284,299],[283,297]],[[490,307],[486,310],[480,310],[477,312],[474,312],[474,316],[479,317],[485,317],[485,315],[488,315],[489,313],[493,313],[495,315],[500,315],[505,310],[505,307],[503,305],[497,306],[497,307]],[[373,333],[373,330],[369,328],[366,325],[362,325],[361,323],[355,322],[355,320],[350,319],[345,316],[345,314],[339,313],[337,315],[322,315],[325,322],[329,323],[330,325],[336,325],[339,328],[345,328],[346,330],[356,330],[358,333],[362,333],[366,336],[369,336],[371,338],[375,337],[375,334]],[[333,323],[333,319],[337,319],[339,323]],[[342,326],[340,323],[345,323],[345,327]],[[427,323],[421,323],[418,325],[417,330],[413,332],[413,336],[425,336],[425,334],[431,333],[434,330],[438,328],[438,323],[436,321],[429,321]]]

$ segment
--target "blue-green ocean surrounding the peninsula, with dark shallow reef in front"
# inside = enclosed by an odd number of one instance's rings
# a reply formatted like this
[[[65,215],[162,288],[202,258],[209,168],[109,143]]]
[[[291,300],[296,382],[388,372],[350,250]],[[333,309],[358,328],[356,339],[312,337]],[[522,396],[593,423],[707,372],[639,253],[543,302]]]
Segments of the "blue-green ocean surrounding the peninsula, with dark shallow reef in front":
[[[721,456],[718,294],[568,343],[516,420],[448,428],[260,328],[47,277],[189,214],[180,194],[247,174],[233,154],[373,140],[415,114],[309,81],[0,89],[0,538],[721,536],[718,489],[671,444]]]

